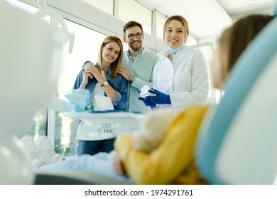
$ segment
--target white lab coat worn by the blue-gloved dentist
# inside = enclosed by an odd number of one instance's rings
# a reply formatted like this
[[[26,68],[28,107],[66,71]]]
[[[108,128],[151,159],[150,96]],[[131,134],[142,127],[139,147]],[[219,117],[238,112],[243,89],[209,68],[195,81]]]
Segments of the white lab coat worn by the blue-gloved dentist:
[[[159,104],[158,108],[171,107],[175,112],[192,104],[205,104],[209,92],[207,63],[200,50],[187,46],[173,54],[173,63],[167,52],[154,68],[153,87],[170,95],[171,104]]]

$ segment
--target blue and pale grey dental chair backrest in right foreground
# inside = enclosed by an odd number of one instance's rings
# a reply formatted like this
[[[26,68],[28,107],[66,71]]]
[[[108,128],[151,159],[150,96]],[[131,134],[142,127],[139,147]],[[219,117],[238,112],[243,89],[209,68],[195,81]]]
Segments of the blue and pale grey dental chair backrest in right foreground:
[[[276,5],[275,5],[275,11]],[[208,112],[196,160],[212,184],[273,184],[277,171],[277,18],[241,54]]]

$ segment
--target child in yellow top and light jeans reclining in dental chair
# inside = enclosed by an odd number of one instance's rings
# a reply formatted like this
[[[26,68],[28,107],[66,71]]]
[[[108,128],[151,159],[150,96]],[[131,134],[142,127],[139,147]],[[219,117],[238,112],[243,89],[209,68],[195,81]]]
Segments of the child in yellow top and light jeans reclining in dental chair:
[[[272,18],[268,15],[246,16],[222,33],[211,62],[215,88],[222,89],[239,55]],[[135,149],[134,135],[121,134],[114,143],[116,154],[112,163],[107,158],[109,154],[82,155],[68,161],[40,165],[37,169],[70,168],[133,184],[206,184],[197,169],[194,149],[207,109],[209,105],[188,107],[174,116],[161,143],[153,151]]]

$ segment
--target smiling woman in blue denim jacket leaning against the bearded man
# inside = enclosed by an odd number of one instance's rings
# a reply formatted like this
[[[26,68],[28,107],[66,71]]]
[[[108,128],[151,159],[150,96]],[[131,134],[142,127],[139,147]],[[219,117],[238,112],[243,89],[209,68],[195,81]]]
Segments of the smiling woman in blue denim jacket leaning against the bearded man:
[[[98,63],[87,61],[76,77],[73,89],[89,90],[94,109],[98,109],[94,96],[107,96],[112,100],[114,109],[123,109],[127,102],[128,82],[118,72],[123,57],[121,39],[107,36],[100,45]],[[115,137],[110,139],[85,141],[80,140],[78,155],[109,152],[114,149]]]

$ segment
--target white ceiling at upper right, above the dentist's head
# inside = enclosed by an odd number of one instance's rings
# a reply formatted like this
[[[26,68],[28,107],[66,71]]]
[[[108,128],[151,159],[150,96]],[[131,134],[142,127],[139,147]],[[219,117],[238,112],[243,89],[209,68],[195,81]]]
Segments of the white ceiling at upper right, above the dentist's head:
[[[139,0],[165,16],[180,14],[196,38],[218,36],[237,18],[248,14],[272,14],[275,0]],[[255,1],[255,2],[254,2]],[[256,4],[251,4],[251,3]]]

